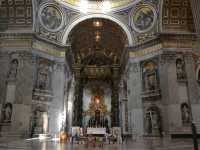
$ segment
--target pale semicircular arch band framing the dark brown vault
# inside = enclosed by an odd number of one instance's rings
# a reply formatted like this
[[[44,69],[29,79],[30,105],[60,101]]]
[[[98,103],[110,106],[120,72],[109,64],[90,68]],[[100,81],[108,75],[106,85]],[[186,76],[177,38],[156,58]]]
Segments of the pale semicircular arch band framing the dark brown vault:
[[[65,45],[68,39],[68,36],[70,34],[70,32],[72,31],[72,29],[78,25],[80,22],[87,20],[87,19],[92,19],[92,18],[103,18],[103,19],[108,19],[111,20],[115,23],[117,23],[122,29],[123,31],[126,33],[127,39],[128,39],[128,46],[133,46],[133,41],[134,38],[131,34],[131,31],[129,29],[129,27],[122,23],[120,20],[118,20],[117,18],[113,17],[113,16],[109,16],[109,15],[105,15],[105,14],[91,14],[91,15],[86,15],[83,17],[80,17],[78,19],[76,19],[75,21],[73,21],[65,30],[63,37],[62,37],[62,44]]]

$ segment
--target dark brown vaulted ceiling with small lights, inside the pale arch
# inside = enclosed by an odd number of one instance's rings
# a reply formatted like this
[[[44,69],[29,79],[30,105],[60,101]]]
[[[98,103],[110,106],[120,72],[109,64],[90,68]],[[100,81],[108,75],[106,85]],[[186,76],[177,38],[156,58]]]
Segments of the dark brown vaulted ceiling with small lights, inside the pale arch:
[[[88,19],[70,33],[72,52],[77,63],[106,65],[119,63],[127,37],[116,23],[107,19]]]

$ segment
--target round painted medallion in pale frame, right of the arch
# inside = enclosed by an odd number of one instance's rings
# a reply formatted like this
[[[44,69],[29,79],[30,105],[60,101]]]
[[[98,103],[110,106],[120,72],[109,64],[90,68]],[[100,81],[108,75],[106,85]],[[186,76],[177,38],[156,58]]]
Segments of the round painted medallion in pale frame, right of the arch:
[[[132,25],[137,32],[147,32],[156,20],[156,11],[153,7],[146,5],[132,13]]]

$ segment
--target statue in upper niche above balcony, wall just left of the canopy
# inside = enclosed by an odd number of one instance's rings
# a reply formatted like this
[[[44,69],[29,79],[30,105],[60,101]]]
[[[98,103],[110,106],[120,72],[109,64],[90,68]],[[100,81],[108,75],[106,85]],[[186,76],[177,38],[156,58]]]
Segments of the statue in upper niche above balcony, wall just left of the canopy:
[[[38,71],[38,88],[46,90],[49,86],[49,66],[41,63]]]

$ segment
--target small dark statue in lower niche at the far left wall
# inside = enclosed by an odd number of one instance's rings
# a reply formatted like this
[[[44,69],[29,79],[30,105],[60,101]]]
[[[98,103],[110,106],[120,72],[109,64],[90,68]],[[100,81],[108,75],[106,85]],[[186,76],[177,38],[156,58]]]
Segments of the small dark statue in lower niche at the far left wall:
[[[12,118],[12,104],[6,103],[3,106],[3,112],[2,112],[2,122],[3,123],[10,123]]]

